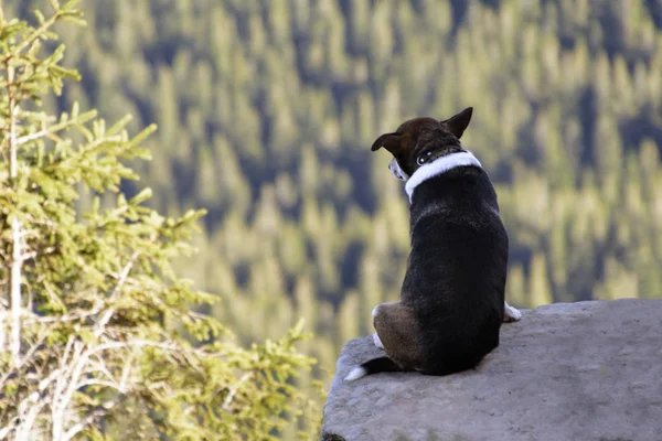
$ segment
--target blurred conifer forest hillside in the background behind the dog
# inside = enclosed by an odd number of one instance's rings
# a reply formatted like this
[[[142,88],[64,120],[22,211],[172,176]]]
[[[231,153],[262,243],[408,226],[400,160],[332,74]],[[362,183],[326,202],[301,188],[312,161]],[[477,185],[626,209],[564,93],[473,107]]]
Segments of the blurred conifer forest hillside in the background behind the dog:
[[[13,0],[29,17],[44,0]],[[9,8],[11,9],[11,8]],[[508,299],[662,295],[661,0],[97,0],[63,28],[85,78],[57,100],[157,122],[156,207],[205,207],[180,265],[246,343],[299,316],[329,383],[408,252],[374,139],[474,107],[462,141],[496,185]],[[89,201],[81,201],[88,204]],[[312,378],[303,378],[308,387]]]

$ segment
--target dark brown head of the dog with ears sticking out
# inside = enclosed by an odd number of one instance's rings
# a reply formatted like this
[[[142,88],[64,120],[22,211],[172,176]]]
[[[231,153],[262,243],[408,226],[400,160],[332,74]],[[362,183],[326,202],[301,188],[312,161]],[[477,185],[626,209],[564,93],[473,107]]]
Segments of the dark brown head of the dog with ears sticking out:
[[[415,118],[403,122],[393,133],[384,133],[371,150],[385,148],[393,154],[388,169],[393,175],[407,181],[421,165],[439,157],[461,152],[460,138],[473,108],[468,107],[444,121],[434,118]]]

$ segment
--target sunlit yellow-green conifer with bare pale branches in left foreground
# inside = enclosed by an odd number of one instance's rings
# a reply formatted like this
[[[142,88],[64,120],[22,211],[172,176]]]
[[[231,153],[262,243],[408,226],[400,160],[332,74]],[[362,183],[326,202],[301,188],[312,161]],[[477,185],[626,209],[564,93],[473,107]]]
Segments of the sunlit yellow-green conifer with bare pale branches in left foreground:
[[[238,345],[196,311],[218,297],[175,271],[204,211],[162,216],[150,189],[120,191],[156,126],[129,137],[130,118],[40,108],[79,77],[53,45],[55,23],[82,23],[75,3],[35,26],[0,14],[0,439],[261,440],[292,421],[306,437],[319,409],[292,383],[313,363],[295,347],[302,322]]]

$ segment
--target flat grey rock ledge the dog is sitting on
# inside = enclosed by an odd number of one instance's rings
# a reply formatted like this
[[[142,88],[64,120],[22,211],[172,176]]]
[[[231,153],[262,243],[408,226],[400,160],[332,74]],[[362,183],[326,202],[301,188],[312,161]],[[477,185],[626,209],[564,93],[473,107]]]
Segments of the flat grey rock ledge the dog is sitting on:
[[[662,300],[556,303],[504,323],[472,370],[375,374],[372,337],[342,349],[323,441],[662,441]]]

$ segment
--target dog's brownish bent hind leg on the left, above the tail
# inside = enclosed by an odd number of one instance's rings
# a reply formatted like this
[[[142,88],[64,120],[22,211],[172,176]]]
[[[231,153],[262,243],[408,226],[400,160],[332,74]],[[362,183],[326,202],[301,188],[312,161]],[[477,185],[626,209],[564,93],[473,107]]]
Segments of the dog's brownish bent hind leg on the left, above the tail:
[[[415,369],[420,366],[416,347],[416,321],[412,311],[401,302],[377,304],[373,309],[373,325],[376,340],[382,343],[386,355],[403,369]],[[378,347],[378,346],[377,346]]]

